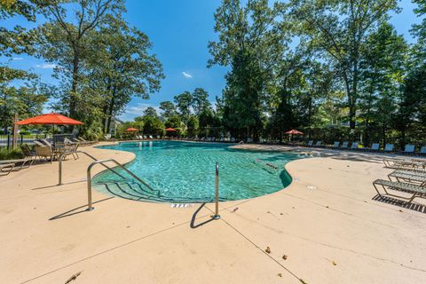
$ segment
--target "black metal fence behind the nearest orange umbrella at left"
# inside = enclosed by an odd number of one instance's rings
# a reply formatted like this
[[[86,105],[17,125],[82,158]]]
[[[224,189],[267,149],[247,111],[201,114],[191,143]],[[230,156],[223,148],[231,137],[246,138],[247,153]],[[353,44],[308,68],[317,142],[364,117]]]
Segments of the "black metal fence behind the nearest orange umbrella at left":
[[[64,143],[65,138],[73,141],[75,138],[74,134],[54,134],[53,137],[50,134],[30,134],[23,135],[19,134],[16,144],[34,144],[34,140],[45,138],[50,140],[53,143]],[[13,146],[13,135],[12,134],[3,134],[0,135],[0,147],[5,147],[7,150],[11,150]]]

